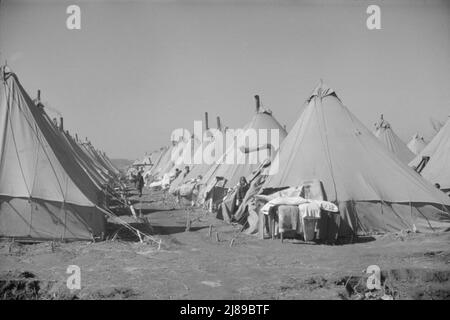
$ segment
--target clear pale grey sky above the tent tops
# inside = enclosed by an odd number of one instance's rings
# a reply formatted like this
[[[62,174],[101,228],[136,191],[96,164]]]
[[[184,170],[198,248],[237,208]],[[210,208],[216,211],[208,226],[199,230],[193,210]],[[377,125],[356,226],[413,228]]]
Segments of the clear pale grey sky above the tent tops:
[[[81,9],[81,30],[66,8]],[[369,5],[381,29],[369,30]],[[289,130],[320,81],[405,141],[450,115],[450,1],[0,0],[0,62],[111,158],[168,145],[209,113],[238,128],[253,96]]]

